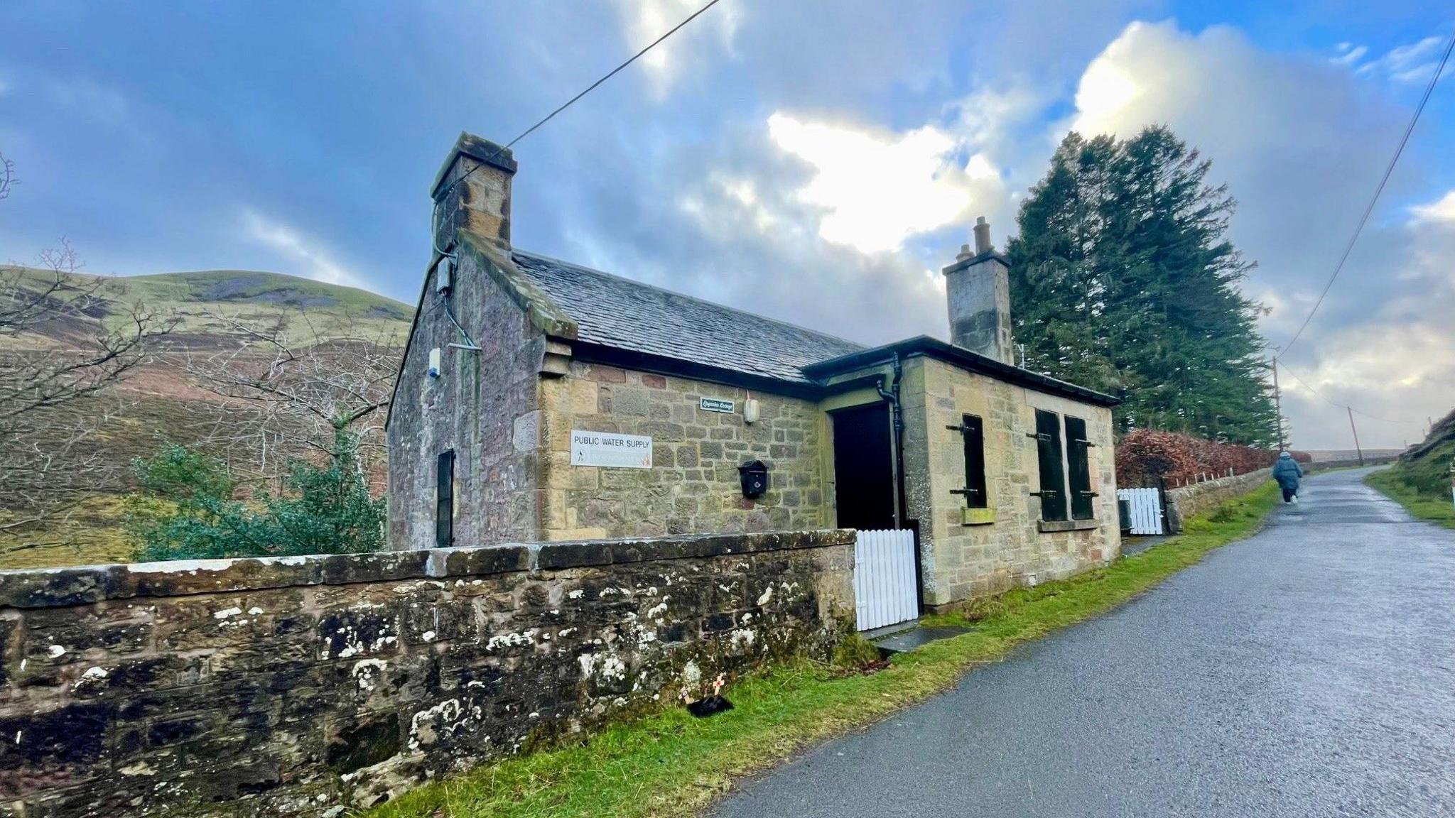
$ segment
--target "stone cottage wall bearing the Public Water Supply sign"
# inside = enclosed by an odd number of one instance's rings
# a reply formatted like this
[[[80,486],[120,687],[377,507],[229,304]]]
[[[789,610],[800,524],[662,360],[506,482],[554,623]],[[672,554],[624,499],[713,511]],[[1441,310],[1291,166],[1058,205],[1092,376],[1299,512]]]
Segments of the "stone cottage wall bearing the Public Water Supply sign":
[[[735,402],[704,412],[701,397]],[[742,419],[742,389],[572,361],[541,381],[544,539],[693,531],[776,531],[832,524],[824,491],[822,412],[808,400],[752,393],[755,424]],[[652,437],[650,469],[570,464],[570,432]],[[768,464],[770,489],[742,496],[738,466]]]

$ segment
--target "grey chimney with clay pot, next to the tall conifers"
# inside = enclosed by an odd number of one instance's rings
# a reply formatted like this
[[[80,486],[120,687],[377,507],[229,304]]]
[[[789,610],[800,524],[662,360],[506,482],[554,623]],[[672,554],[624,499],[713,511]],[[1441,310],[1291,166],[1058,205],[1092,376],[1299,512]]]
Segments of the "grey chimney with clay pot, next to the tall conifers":
[[[975,220],[975,252],[960,247],[944,268],[950,304],[950,344],[1016,364],[1010,339],[1010,262],[991,246],[991,226]]]

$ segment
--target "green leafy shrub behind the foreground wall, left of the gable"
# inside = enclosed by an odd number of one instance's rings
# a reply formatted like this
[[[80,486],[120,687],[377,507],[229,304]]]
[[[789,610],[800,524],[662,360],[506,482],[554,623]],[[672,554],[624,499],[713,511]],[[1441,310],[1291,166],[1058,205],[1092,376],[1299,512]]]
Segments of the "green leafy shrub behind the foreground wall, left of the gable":
[[[374,552],[384,547],[384,499],[374,499],[358,441],[335,434],[324,466],[290,464],[282,492],[239,498],[237,480],[210,454],[163,445],[134,461],[140,491],[127,498],[135,559],[214,559]]]

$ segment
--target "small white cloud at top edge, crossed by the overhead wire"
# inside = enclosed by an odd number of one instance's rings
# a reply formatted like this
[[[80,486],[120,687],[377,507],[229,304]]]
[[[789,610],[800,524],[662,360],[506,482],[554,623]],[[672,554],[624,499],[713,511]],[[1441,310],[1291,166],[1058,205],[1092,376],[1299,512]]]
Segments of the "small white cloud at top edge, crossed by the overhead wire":
[[[703,0],[620,0],[617,10],[624,44],[634,54],[701,7]],[[643,54],[637,65],[646,71],[653,93],[661,98],[672,89],[687,63],[684,57],[701,48],[703,38],[716,38],[732,54],[739,15],[738,3],[719,3]]]

